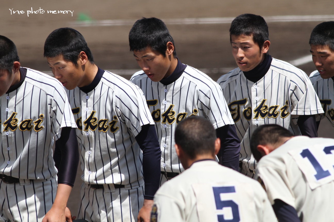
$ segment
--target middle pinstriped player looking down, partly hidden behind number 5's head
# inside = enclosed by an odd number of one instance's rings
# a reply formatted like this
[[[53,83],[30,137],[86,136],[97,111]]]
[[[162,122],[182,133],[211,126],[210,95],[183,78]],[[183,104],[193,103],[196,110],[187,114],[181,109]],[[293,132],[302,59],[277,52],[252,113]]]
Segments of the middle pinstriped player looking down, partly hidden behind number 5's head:
[[[173,38],[160,19],[136,21],[129,43],[142,69],[130,81],[144,92],[160,142],[160,184],[183,171],[174,149],[174,131],[188,116],[205,116],[211,121],[222,141],[220,162],[238,170],[240,141],[220,87],[204,73],[178,60]]]

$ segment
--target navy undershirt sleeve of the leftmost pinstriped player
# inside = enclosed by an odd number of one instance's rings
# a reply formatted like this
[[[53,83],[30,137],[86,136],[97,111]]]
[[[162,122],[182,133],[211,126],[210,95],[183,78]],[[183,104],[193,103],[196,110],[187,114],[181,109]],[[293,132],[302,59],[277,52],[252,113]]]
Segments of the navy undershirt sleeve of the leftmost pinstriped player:
[[[75,128],[61,128],[61,136],[55,143],[53,160],[58,169],[58,184],[63,183],[73,187],[79,163]]]

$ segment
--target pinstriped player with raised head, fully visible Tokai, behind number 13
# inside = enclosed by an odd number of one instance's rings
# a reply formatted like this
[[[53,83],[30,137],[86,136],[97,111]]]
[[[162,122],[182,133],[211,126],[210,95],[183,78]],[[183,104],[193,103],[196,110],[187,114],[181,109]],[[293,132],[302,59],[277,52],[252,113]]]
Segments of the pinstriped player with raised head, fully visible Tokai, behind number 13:
[[[316,137],[315,114],[323,111],[308,76],[268,54],[268,26],[261,16],[239,15],[229,32],[238,68],[221,76],[217,83],[241,140],[240,171],[253,178],[256,160],[249,140],[258,126],[275,123],[294,135]]]

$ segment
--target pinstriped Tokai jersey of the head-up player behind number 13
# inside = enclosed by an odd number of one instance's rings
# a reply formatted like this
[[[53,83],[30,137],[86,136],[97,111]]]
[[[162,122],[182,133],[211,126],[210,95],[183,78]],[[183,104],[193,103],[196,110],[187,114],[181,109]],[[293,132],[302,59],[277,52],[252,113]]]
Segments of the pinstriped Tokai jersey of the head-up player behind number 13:
[[[217,83],[241,140],[240,161],[251,170],[256,161],[249,143],[258,125],[278,124],[300,135],[298,116],[323,112],[307,75],[281,60],[273,59],[269,71],[256,83],[247,80],[239,68],[221,76]]]

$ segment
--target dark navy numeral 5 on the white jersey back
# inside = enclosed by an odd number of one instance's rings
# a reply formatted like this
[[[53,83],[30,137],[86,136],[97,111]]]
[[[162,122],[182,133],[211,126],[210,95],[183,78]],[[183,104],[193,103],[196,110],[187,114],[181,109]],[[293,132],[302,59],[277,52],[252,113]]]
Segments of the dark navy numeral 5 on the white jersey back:
[[[222,210],[224,207],[231,207],[233,219],[225,220],[224,215],[217,215],[218,222],[239,222],[239,207],[233,200],[221,200],[221,193],[235,193],[234,186],[212,187],[214,201],[216,202],[217,210]]]

